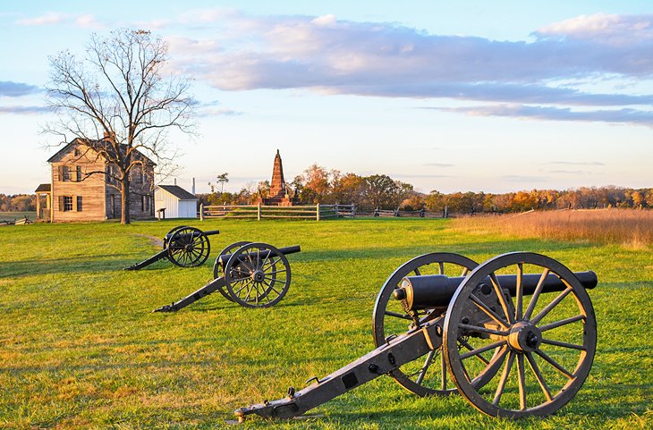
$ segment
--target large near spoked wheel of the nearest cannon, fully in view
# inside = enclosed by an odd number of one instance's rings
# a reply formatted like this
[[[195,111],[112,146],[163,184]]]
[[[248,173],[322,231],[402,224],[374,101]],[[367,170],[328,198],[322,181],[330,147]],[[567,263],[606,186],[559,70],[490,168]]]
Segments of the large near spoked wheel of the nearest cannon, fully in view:
[[[517,275],[513,304],[509,295],[497,294],[502,290],[497,273]],[[548,274],[555,274],[566,289],[544,292],[539,286],[527,303],[519,281],[524,273],[541,273],[540,285]],[[488,280],[500,306],[492,309],[494,333],[480,339],[480,332],[471,322],[464,324],[464,318],[479,309],[490,316],[472,301],[477,286]],[[490,327],[485,328],[488,333]],[[503,367],[482,391],[469,383],[472,375],[466,365],[474,353],[457,348],[461,335],[469,335],[477,350],[495,350],[493,359]],[[589,375],[597,322],[587,291],[568,268],[549,257],[515,252],[488,260],[461,283],[446,312],[444,344],[454,383],[474,408],[493,417],[546,416],[571,400]]]

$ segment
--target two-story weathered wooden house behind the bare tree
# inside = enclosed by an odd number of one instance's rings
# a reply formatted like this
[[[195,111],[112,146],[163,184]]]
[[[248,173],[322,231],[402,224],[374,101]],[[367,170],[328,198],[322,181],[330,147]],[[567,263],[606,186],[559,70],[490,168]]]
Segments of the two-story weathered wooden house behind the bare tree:
[[[135,151],[142,164],[130,173],[130,216],[154,216],[154,164]],[[73,140],[51,156],[50,184],[37,189],[37,217],[53,223],[60,221],[99,221],[120,219],[120,184],[112,179],[116,166],[104,156]],[[49,190],[48,190],[49,189]],[[42,197],[45,196],[45,207]]]

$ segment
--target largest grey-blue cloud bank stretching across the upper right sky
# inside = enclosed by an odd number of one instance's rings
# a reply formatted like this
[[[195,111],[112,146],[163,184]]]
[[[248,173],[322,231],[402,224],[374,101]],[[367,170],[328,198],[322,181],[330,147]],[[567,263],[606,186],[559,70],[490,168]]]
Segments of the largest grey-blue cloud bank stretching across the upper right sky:
[[[595,21],[599,21],[595,19]],[[623,20],[622,31],[646,20]],[[605,76],[653,79],[653,39],[606,46],[595,38],[546,38],[580,28],[539,30],[535,42],[428,34],[394,23],[336,21],[334,16],[229,15],[208,40],[185,39],[174,58],[186,72],[216,88],[313,88],[384,97],[454,97],[472,100],[560,101],[564,104],[650,104],[653,97],[591,95],[552,82]],[[248,31],[239,33],[230,29]],[[222,29],[226,27],[226,31]],[[588,26],[586,26],[588,27]],[[607,30],[606,30],[607,31]],[[228,35],[225,37],[225,35]],[[513,98],[515,97],[515,98]]]

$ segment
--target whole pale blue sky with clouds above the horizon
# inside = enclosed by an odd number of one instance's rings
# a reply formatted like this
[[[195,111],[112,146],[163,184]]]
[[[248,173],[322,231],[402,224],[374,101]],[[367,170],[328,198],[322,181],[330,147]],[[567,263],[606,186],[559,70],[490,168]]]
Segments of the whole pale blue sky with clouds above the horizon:
[[[128,14],[125,12],[129,12]],[[653,187],[653,3],[12,2],[0,11],[0,192],[49,181],[48,55],[152,30],[193,80],[178,183],[310,164],[418,190]]]

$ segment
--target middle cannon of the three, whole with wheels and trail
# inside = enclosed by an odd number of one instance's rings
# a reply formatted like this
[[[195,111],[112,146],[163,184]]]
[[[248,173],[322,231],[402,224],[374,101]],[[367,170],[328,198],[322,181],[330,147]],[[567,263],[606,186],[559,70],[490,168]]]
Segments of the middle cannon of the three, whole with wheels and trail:
[[[154,312],[175,312],[216,291],[245,308],[275,306],[290,288],[290,263],[285,256],[296,252],[301,252],[298,245],[276,249],[262,242],[235,242],[216,258],[213,281]]]

